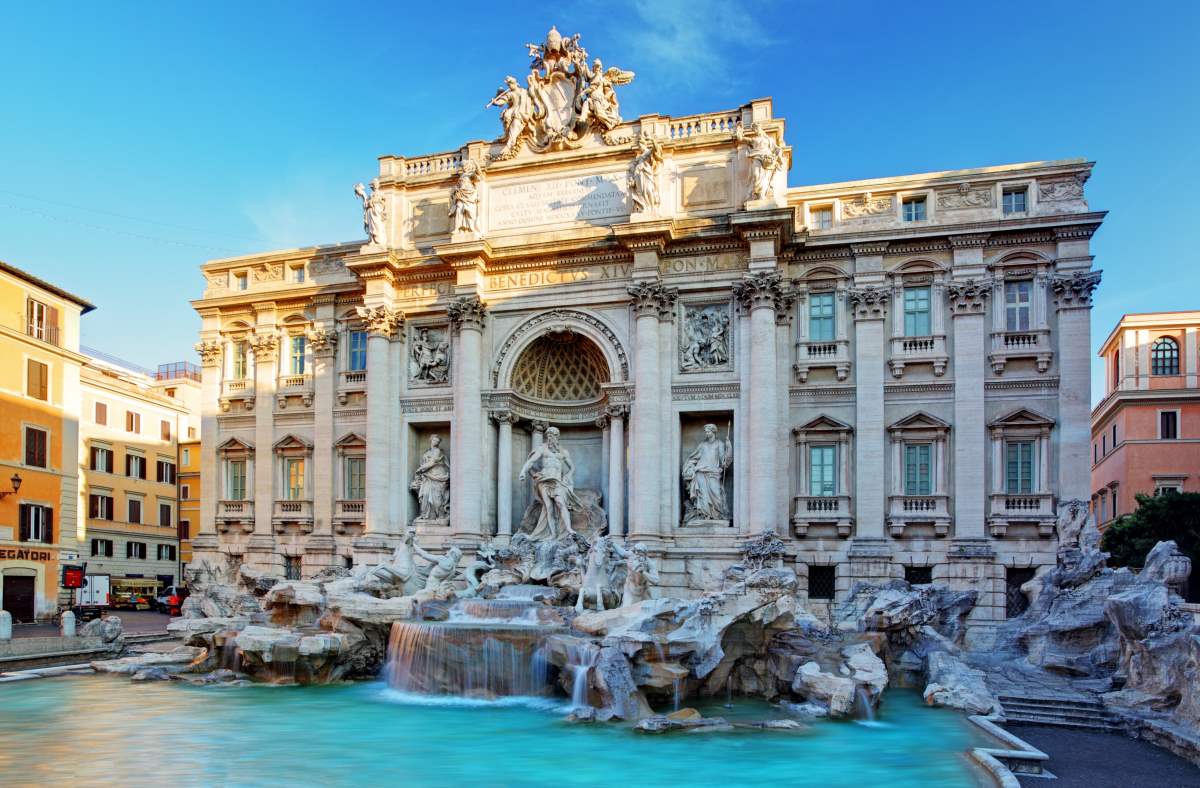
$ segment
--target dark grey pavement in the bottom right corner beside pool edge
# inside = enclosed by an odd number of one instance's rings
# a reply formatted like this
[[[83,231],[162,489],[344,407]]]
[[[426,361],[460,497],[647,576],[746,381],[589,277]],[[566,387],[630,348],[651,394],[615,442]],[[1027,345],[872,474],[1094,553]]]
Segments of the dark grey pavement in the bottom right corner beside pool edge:
[[[1182,788],[1200,786],[1200,768],[1147,741],[1109,733],[1006,724],[1050,756],[1057,780],[1021,777],[1025,788]]]

